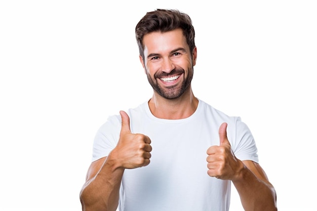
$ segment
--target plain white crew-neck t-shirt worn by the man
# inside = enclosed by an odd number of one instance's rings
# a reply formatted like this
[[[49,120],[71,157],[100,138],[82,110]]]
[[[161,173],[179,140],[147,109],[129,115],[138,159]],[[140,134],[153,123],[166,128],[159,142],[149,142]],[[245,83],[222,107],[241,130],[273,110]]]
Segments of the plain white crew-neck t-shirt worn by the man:
[[[258,162],[257,148],[247,125],[202,100],[185,119],[160,119],[147,102],[127,112],[132,133],[151,139],[150,164],[125,170],[119,209],[121,211],[225,211],[230,204],[228,180],[207,174],[207,149],[219,146],[219,126],[227,122],[227,137],[240,160]],[[116,146],[121,116],[110,116],[97,132],[93,161],[107,156]]]

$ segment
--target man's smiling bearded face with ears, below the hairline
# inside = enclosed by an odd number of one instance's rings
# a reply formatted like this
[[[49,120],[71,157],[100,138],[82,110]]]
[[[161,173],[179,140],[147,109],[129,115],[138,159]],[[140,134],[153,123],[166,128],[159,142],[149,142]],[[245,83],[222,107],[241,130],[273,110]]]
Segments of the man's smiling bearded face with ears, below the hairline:
[[[140,61],[154,93],[175,99],[190,89],[197,51],[190,52],[181,29],[146,34],[143,45]]]

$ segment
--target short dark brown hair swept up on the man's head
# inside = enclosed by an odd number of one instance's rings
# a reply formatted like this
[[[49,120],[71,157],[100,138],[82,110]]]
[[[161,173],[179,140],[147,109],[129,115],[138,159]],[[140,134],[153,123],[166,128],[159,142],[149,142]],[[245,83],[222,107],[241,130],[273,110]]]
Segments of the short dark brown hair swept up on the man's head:
[[[190,52],[192,52],[195,48],[195,31],[191,19],[187,14],[178,10],[163,9],[147,12],[135,27],[135,36],[143,61],[144,46],[142,40],[145,34],[155,31],[168,32],[178,28],[183,30]]]

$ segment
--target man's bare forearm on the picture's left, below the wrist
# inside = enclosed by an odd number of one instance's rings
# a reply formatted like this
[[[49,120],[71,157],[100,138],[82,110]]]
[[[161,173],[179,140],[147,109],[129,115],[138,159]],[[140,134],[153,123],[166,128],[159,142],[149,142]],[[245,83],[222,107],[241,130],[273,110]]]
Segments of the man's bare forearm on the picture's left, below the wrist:
[[[114,211],[118,205],[124,168],[115,166],[109,157],[99,172],[88,179],[80,194],[83,211]]]

